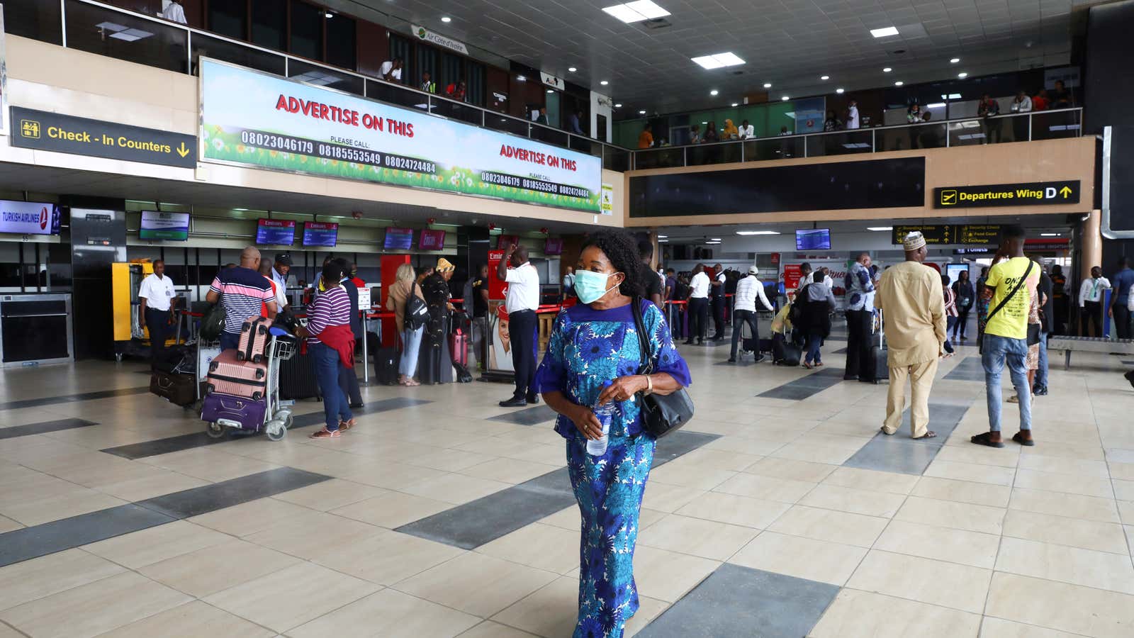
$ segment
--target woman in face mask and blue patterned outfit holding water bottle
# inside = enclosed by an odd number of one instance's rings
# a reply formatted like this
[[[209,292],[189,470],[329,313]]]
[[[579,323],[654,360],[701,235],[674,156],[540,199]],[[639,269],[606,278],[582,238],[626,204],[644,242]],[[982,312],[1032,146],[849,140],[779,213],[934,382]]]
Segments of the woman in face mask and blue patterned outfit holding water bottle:
[[[641,299],[645,276],[655,275],[646,275],[627,233],[591,235],[575,275],[581,303],[556,318],[535,376],[543,400],[559,413],[556,431],[567,439],[567,468],[583,515],[574,638],[620,638],[638,608],[634,544],[654,439],[642,431],[641,398],[631,400],[689,385],[689,369],[674,347],[665,317]],[[637,373],[642,354],[632,300],[641,303],[645,338],[658,355],[657,372],[649,377]],[[607,451],[591,455],[587,439],[602,437],[592,406],[611,401],[617,409]]]

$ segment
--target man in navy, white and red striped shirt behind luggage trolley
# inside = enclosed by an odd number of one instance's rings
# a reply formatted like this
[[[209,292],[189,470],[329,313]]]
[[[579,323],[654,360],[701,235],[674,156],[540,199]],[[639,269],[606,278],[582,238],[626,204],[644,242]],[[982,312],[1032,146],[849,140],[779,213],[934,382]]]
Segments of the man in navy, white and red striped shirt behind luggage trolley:
[[[261,317],[268,309],[268,318],[276,319],[276,293],[259,272],[260,251],[248,246],[240,252],[240,266],[226,268],[217,274],[205,301],[225,308],[225,330],[220,334],[220,349],[229,350],[240,344],[240,326],[253,317]]]

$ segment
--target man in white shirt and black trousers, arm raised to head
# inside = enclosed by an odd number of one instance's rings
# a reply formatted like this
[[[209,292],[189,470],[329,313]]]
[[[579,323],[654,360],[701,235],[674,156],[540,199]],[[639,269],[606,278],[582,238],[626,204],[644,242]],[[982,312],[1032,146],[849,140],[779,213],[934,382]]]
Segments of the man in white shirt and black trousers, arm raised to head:
[[[513,268],[508,268],[511,263]],[[508,311],[508,334],[511,337],[511,367],[516,372],[516,392],[500,402],[501,408],[521,408],[540,402],[535,394],[535,310],[540,307],[540,274],[527,261],[527,249],[513,244],[497,267],[497,277],[508,284],[503,305]]]

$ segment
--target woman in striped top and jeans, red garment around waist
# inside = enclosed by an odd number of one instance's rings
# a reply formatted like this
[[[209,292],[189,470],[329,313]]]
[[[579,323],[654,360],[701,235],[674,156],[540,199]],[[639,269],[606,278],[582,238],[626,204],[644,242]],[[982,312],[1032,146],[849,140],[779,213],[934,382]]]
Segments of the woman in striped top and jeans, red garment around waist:
[[[331,261],[323,266],[323,282],[342,278],[342,266]],[[307,351],[315,368],[315,379],[323,393],[327,427],[311,438],[339,436],[354,427],[354,414],[339,387],[339,367],[354,367],[354,333],[350,331],[350,297],[341,284],[320,294],[307,309],[307,326],[296,334],[307,337]]]

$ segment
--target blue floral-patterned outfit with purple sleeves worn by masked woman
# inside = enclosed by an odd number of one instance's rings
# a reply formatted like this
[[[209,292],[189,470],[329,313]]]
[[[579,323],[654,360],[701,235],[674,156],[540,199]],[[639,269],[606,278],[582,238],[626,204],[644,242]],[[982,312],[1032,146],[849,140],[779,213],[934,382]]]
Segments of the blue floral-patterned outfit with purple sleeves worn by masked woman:
[[[689,369],[674,347],[661,311],[642,302],[642,322],[655,372],[689,385]],[[540,393],[561,392],[578,405],[593,405],[602,383],[636,375],[642,364],[637,329],[629,305],[593,310],[576,305],[556,318],[548,352],[535,375]],[[574,638],[620,638],[638,608],[634,584],[634,546],[654,440],[642,434],[636,402],[624,402],[610,423],[607,452],[592,456],[586,438],[560,415],[556,431],[567,439],[567,469],[582,513],[578,622]]]

